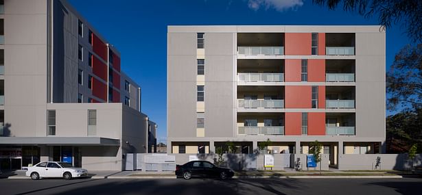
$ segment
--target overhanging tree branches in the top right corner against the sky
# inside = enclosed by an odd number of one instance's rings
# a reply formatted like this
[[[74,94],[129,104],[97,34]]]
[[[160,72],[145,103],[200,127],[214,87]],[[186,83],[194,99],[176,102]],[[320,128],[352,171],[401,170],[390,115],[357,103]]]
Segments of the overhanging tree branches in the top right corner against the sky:
[[[344,11],[358,12],[371,18],[378,16],[379,25],[386,28],[401,23],[406,34],[414,42],[422,42],[421,0],[312,0],[316,5],[327,5],[334,10],[342,2]]]

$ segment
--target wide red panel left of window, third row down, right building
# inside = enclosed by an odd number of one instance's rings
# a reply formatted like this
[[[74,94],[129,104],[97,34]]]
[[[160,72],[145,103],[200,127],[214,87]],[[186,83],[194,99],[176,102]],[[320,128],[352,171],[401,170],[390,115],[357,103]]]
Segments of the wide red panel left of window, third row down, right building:
[[[311,108],[312,86],[285,86],[285,108]]]

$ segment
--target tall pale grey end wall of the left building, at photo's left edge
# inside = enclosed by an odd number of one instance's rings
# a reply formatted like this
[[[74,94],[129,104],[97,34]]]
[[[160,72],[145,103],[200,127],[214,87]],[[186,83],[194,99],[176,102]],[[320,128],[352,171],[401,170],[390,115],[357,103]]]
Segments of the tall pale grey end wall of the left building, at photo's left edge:
[[[9,136],[45,136],[47,1],[5,0],[4,10],[5,130]]]

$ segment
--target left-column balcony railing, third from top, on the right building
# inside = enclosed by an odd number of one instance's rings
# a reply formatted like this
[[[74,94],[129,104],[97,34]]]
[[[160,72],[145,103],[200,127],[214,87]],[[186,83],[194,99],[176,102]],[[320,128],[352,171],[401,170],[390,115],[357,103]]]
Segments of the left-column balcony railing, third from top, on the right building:
[[[283,99],[238,99],[238,107],[246,109],[254,108],[268,108],[268,109],[280,109],[284,107]]]

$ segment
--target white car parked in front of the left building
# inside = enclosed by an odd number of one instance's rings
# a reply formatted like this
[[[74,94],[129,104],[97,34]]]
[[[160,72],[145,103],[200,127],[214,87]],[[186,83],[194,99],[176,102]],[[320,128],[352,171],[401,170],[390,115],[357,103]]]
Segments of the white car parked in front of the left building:
[[[88,171],[83,168],[74,168],[71,164],[56,161],[43,161],[34,166],[28,167],[26,176],[33,180],[42,177],[63,177],[63,179],[72,179],[73,177],[86,177]]]

